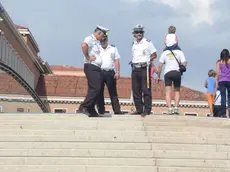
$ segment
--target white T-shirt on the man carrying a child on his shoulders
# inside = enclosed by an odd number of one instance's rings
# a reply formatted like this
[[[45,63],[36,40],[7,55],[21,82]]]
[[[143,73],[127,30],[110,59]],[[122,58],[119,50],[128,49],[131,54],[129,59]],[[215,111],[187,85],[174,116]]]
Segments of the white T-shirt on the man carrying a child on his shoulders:
[[[180,63],[186,61],[184,53],[181,50],[173,50],[173,53]],[[161,54],[159,62],[165,64],[164,75],[173,70],[179,71],[179,64],[170,50],[166,50]]]

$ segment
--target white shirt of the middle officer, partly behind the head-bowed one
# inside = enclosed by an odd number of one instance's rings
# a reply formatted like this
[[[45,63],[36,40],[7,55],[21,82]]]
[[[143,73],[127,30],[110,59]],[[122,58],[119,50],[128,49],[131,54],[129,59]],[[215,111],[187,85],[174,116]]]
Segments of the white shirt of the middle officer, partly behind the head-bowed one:
[[[101,69],[114,70],[115,60],[120,59],[120,54],[114,45],[108,45],[105,49],[100,47],[100,56],[102,59]]]

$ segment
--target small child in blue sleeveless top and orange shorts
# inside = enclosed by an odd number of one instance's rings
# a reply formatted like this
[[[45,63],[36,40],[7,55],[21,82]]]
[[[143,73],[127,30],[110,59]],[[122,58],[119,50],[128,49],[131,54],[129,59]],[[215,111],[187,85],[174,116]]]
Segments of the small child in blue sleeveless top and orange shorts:
[[[207,100],[210,109],[210,116],[214,114],[214,102],[216,98],[216,72],[211,69],[208,71],[208,78],[205,80],[205,88],[207,88]]]

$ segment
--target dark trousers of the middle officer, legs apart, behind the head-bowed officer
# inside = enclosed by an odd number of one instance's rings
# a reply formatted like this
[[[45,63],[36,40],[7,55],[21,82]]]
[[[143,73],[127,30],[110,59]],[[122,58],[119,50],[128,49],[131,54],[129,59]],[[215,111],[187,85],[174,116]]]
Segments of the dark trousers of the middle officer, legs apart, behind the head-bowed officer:
[[[110,100],[112,103],[113,112],[114,113],[121,112],[118,95],[117,95],[117,82],[116,82],[116,79],[114,78],[114,75],[115,75],[115,72],[112,70],[111,71],[104,71],[104,70],[101,71],[101,91],[97,99],[97,109],[98,109],[98,112],[101,114],[105,113],[105,100],[104,100],[105,84],[109,91],[109,96],[110,96]]]

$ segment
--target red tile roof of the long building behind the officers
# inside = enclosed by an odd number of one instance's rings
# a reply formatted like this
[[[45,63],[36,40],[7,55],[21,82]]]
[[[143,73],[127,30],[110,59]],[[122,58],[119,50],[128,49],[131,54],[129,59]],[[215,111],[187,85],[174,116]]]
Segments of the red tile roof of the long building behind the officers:
[[[129,99],[131,95],[131,79],[121,77],[117,82],[119,98]],[[36,88],[40,96],[63,96],[63,97],[85,97],[87,93],[87,79],[83,76],[41,76]],[[0,74],[0,94],[28,95],[27,91],[19,85],[11,76],[5,73]],[[152,96],[154,100],[165,99],[164,83],[153,83]],[[109,97],[107,88],[105,97]],[[181,88],[181,100],[206,101],[205,94],[190,89]]]

